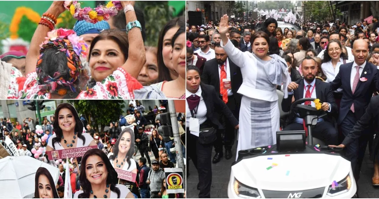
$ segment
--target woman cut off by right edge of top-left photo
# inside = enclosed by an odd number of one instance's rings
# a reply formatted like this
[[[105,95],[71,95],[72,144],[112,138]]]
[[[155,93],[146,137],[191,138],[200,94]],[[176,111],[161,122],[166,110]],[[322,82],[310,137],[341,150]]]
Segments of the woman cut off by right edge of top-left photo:
[[[172,37],[172,66],[179,76],[172,81],[163,81],[152,86],[157,86],[169,99],[185,99],[185,75],[186,75],[186,32],[185,27],[180,27]]]

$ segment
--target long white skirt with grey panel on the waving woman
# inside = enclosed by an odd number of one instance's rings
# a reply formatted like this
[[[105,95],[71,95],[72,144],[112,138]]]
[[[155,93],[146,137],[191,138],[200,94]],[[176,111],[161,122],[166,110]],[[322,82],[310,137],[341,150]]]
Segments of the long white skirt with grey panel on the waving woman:
[[[242,96],[238,151],[276,144],[280,113],[278,101],[268,102]]]

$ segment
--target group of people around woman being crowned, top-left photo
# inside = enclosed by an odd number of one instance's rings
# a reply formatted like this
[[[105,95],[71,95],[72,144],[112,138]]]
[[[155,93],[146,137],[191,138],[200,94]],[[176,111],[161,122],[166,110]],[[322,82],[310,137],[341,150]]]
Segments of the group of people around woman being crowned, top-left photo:
[[[134,1],[121,4],[128,9],[108,21],[78,20],[66,30],[55,29],[64,2],[53,2],[27,55],[0,56],[2,74],[7,74],[1,77],[6,91],[0,99],[184,99],[184,16],[162,27],[158,47],[144,46],[143,11],[134,8]]]

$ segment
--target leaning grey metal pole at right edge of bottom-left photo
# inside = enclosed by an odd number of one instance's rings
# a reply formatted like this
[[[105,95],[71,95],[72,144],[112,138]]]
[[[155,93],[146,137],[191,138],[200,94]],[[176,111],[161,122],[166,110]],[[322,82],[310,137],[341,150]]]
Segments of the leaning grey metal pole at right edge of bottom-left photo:
[[[168,107],[169,107],[169,113],[171,118],[171,124],[172,124],[172,133],[174,135],[174,143],[175,143],[175,151],[176,151],[176,162],[178,164],[179,168],[183,169],[183,174],[185,174],[185,166],[184,166],[184,160],[183,160],[183,151],[182,151],[182,142],[180,141],[180,134],[179,134],[179,127],[178,127],[178,119],[176,116],[176,110],[175,110],[175,104],[174,100],[168,100]],[[183,180],[185,180],[185,175],[183,175]]]

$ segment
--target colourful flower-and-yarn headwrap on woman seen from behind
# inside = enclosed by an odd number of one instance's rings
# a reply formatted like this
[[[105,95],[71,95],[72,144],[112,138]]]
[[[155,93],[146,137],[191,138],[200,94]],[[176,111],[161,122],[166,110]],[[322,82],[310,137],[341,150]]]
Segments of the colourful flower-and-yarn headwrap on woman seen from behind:
[[[69,72],[69,78],[63,76],[60,72],[56,71],[53,77],[45,76],[43,79],[39,79],[39,82],[46,85],[47,91],[56,91],[58,94],[65,95],[67,88],[72,92],[76,92],[75,81],[78,80],[79,75],[82,73],[82,66],[80,61],[80,55],[86,56],[87,45],[82,38],[79,38],[73,30],[57,29],[47,33],[46,40],[40,45],[39,58],[36,66],[37,75],[41,73],[41,63],[44,60],[44,52],[49,48],[55,48],[61,52],[66,53],[67,67]],[[53,67],[53,66],[52,66]]]

